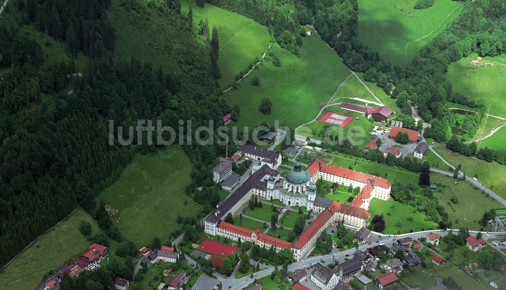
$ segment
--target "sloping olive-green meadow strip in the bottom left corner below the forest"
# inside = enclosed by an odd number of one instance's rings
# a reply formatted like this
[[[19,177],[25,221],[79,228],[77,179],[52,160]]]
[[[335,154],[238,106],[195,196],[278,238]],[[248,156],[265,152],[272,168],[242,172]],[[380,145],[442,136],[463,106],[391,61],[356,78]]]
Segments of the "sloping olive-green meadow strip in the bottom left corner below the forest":
[[[0,289],[34,289],[46,273],[84,252],[92,242],[79,232],[82,220],[92,223],[92,235],[99,231],[96,221],[77,209],[0,272]]]

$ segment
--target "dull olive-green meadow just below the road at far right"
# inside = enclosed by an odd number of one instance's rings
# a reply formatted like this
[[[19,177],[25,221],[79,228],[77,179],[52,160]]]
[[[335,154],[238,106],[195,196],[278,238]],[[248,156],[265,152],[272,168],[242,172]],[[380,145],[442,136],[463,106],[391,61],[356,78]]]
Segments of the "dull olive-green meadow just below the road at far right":
[[[433,191],[434,196],[439,198],[439,203],[448,213],[454,229],[480,230],[478,221],[483,214],[492,208],[501,208],[500,203],[490,198],[488,194],[483,194],[469,182],[460,180],[455,185],[455,179],[452,177],[436,173],[431,174],[431,182],[438,185]],[[450,200],[452,196],[458,198],[458,203]]]

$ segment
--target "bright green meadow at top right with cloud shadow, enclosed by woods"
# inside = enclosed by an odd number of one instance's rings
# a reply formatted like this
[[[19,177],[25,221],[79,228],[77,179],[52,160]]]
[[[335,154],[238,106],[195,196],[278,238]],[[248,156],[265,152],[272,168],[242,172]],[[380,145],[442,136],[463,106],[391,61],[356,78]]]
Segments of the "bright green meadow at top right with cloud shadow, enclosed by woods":
[[[462,3],[438,0],[427,9],[416,0],[359,0],[358,38],[392,64],[405,66],[462,11]]]

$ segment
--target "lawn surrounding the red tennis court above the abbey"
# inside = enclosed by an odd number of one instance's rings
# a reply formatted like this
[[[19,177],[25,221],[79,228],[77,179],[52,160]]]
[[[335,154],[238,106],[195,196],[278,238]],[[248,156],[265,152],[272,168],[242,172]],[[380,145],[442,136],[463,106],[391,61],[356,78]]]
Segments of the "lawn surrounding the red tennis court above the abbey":
[[[353,117],[353,120],[346,127],[320,122],[319,119],[326,112],[334,112],[350,116]],[[369,131],[372,130],[373,127],[373,122],[367,119],[364,114],[344,110],[335,106],[325,108],[325,110],[323,110],[323,112],[318,116],[318,120],[300,128],[297,133],[324,141],[327,140],[327,138],[329,138],[328,140],[330,141],[334,141],[334,136],[337,136],[338,140],[348,139],[353,145],[365,146],[365,144],[367,144],[370,140]]]

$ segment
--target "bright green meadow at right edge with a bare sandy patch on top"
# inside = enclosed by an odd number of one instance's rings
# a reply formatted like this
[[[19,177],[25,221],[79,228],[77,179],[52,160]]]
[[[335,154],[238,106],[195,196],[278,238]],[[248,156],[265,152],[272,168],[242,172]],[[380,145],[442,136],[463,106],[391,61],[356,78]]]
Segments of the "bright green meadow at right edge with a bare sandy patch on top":
[[[485,57],[478,62],[473,54],[453,62],[446,78],[453,91],[477,102],[482,102],[486,112],[506,117],[506,56]],[[487,64],[488,63],[488,64]]]

